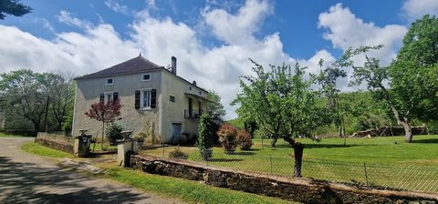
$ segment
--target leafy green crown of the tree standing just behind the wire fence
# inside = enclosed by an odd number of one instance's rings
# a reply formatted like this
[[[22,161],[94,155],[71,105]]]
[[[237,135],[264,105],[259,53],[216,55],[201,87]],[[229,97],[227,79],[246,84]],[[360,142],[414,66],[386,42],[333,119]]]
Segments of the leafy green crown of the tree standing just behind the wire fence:
[[[254,120],[264,134],[272,138],[275,147],[277,138],[284,138],[295,145],[293,137],[311,137],[324,118],[321,107],[316,106],[319,92],[310,88],[312,81],[304,79],[304,69],[294,66],[264,67],[255,63],[255,76],[242,76],[238,94],[233,105],[239,104],[237,114],[245,120]],[[321,119],[322,118],[322,119]]]

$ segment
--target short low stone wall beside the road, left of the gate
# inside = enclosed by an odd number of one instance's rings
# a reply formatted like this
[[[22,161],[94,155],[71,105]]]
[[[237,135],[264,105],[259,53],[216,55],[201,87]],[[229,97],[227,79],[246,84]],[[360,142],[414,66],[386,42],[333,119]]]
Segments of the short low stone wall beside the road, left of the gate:
[[[38,136],[35,138],[35,142],[42,146],[65,151],[70,154],[73,154],[74,140],[75,138],[73,137],[58,136],[44,132],[38,132]]]

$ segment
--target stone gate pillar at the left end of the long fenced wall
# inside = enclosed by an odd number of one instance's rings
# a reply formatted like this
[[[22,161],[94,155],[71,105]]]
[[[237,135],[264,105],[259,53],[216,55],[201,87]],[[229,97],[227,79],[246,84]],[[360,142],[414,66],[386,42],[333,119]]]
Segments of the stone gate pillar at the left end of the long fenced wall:
[[[117,141],[117,163],[122,167],[130,167],[130,155],[138,152],[137,141],[133,138],[124,138]]]

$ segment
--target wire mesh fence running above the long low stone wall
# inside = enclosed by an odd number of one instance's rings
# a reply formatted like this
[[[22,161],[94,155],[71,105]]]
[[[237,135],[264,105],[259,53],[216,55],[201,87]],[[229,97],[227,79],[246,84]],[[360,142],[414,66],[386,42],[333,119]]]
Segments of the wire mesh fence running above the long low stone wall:
[[[176,149],[179,151],[175,154]],[[172,153],[171,153],[172,152]],[[183,154],[181,153],[183,152]],[[163,147],[145,149],[141,154],[159,158],[185,158],[206,166],[232,168],[278,177],[294,177],[293,155],[266,155],[256,150],[225,153],[222,149]],[[362,188],[409,190],[438,193],[438,167],[419,165],[383,165],[304,158],[303,178],[343,183]]]

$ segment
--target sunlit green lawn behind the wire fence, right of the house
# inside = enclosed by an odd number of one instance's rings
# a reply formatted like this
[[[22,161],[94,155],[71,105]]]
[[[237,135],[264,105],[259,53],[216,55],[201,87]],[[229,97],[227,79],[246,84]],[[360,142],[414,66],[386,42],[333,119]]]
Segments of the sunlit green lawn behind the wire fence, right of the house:
[[[366,184],[394,189],[411,189],[438,192],[438,136],[414,136],[411,144],[403,137],[381,138],[326,138],[320,142],[308,138],[297,141],[305,144],[303,177],[338,182]],[[235,168],[293,176],[293,148],[282,139],[276,148],[270,140],[254,140],[252,150],[236,150],[224,154],[222,148],[214,148],[213,159],[203,161],[197,148],[181,147],[189,159],[206,165]],[[168,157],[175,148],[155,148],[144,153]],[[365,169],[366,168],[366,169]],[[367,175],[365,175],[367,171]]]

